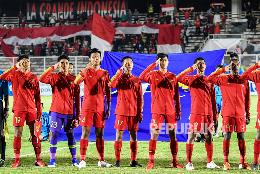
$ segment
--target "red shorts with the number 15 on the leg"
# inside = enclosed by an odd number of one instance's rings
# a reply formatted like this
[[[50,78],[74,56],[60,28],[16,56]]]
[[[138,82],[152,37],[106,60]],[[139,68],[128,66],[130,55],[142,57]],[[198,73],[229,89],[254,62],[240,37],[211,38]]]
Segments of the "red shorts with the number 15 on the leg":
[[[165,125],[166,125],[167,129],[177,128],[176,115],[161,115],[161,114],[152,115],[152,121],[151,121],[150,128],[161,130],[162,126],[164,124],[164,120],[165,120]]]

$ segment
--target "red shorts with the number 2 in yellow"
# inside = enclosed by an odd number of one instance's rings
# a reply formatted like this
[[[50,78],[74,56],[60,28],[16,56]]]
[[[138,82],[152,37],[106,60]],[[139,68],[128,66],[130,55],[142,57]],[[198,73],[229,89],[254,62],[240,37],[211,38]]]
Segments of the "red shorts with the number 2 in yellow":
[[[190,132],[213,132],[213,115],[190,114]]]

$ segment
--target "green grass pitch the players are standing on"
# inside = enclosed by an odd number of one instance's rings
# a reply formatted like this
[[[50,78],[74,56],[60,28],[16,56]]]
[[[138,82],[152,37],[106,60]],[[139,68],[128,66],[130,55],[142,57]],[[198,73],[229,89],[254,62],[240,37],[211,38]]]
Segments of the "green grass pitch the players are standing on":
[[[42,96],[42,102],[44,103],[44,111],[48,112],[51,104],[51,96]],[[39,167],[34,165],[35,155],[34,148],[31,142],[27,142],[29,137],[29,128],[28,126],[24,126],[23,135],[22,135],[22,147],[20,155],[32,154],[29,156],[20,157],[21,167],[11,168],[9,167],[13,164],[14,159],[10,159],[14,157],[13,152],[13,137],[14,137],[14,127],[13,123],[13,113],[12,113],[12,105],[13,105],[13,96],[10,96],[10,104],[9,104],[9,117],[8,117],[8,128],[10,140],[6,143],[6,167],[0,167],[0,173],[223,173],[223,150],[222,150],[222,142],[223,138],[214,138],[213,145],[213,161],[220,166],[220,169],[207,169],[207,154],[205,150],[205,144],[200,142],[194,143],[194,150],[192,154],[192,163],[195,168],[194,171],[187,171],[184,169],[171,168],[171,152],[169,148],[169,142],[157,142],[157,148],[154,156],[154,168],[151,170],[145,169],[147,162],[149,162],[148,156],[148,145],[149,141],[138,141],[138,153],[137,153],[137,161],[139,164],[143,165],[142,168],[129,167],[129,163],[131,160],[131,151],[129,147],[129,141],[122,141],[122,151],[121,151],[121,168],[114,167],[97,167],[98,155],[96,151],[95,142],[89,142],[89,146],[86,153],[86,168],[78,168],[75,166],[71,166],[71,155],[70,151],[67,148],[67,142],[58,142],[58,149],[56,153],[56,167]],[[183,109],[183,108],[182,108]],[[257,96],[251,96],[251,120],[250,124],[247,125],[247,131],[245,133],[245,141],[246,141],[246,162],[252,166],[254,162],[253,156],[253,144],[256,137],[256,112],[257,109]],[[255,117],[254,117],[255,116]],[[112,117],[113,118],[113,117]],[[112,119],[111,118],[111,119]],[[219,117],[219,122],[222,121],[221,116]],[[219,136],[221,136],[221,123],[219,123]],[[106,130],[105,130],[106,131]],[[116,131],[116,130],[115,130]],[[77,159],[80,160],[80,142],[76,142],[77,148]],[[178,162],[186,167],[186,142],[178,142]],[[43,162],[47,165],[49,164],[50,155],[49,152],[49,142],[41,142],[41,158]],[[115,164],[115,153],[114,153],[114,141],[105,141],[105,159],[107,162],[112,165]],[[241,172],[253,172],[258,173],[260,170],[252,171],[246,169],[239,169],[240,163],[240,153],[238,149],[238,142],[236,133],[232,134],[232,138],[230,141],[230,151],[229,151],[229,162],[231,165],[231,171],[229,173],[241,173]]]

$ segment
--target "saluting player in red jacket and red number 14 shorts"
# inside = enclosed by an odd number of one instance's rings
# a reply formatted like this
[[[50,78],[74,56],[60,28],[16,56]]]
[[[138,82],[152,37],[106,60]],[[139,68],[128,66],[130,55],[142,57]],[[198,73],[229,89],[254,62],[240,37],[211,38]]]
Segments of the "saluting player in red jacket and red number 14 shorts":
[[[228,72],[230,69],[231,74],[222,74]],[[209,82],[220,87],[222,94],[222,130],[225,131],[223,140],[224,170],[230,170],[228,155],[232,132],[237,132],[238,148],[240,151],[239,168],[250,168],[245,163],[246,145],[244,140],[246,125],[250,122],[250,88],[248,81],[239,74],[239,69],[239,60],[231,59],[228,66],[211,73],[208,77]]]

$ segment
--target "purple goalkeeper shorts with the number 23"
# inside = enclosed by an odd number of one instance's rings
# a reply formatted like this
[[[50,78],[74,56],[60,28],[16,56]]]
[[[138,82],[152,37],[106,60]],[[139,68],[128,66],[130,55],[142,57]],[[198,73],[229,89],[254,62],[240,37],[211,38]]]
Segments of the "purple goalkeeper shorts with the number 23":
[[[75,128],[71,127],[71,123],[73,120],[74,119],[58,118],[52,115],[50,122],[50,130],[60,132],[63,125],[64,132],[74,132]]]

